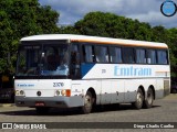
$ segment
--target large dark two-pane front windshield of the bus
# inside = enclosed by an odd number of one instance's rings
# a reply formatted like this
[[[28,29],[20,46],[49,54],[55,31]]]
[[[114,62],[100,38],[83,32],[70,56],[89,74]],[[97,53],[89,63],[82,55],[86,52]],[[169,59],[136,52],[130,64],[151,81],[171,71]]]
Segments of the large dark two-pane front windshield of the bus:
[[[17,76],[67,76],[67,44],[23,45],[18,52]]]

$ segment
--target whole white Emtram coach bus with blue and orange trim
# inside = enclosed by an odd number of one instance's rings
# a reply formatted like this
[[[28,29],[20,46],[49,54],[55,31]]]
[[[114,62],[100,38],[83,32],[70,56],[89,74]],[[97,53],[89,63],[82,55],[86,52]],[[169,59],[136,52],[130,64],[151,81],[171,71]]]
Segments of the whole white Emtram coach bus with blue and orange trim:
[[[15,105],[81,108],[132,103],[150,108],[169,94],[170,66],[164,43],[72,34],[23,37],[14,77]]]

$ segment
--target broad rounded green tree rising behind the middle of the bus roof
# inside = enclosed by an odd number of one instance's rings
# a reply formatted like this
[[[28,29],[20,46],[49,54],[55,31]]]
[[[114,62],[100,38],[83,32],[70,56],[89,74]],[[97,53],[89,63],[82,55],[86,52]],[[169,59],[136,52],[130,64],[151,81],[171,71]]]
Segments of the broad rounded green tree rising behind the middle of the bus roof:
[[[75,29],[85,35],[150,41],[152,28],[148,23],[127,19],[113,13],[90,12],[75,23]]]

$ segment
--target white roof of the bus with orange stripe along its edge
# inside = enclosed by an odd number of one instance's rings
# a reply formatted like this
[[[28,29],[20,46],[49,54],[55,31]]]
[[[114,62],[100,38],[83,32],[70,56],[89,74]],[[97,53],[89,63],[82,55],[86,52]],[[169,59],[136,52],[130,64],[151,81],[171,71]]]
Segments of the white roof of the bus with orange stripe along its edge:
[[[101,44],[118,44],[127,46],[168,48],[168,46],[165,43],[88,36],[88,35],[73,35],[73,34],[42,34],[42,35],[27,36],[21,38],[20,41],[42,41],[42,40],[69,40],[71,42],[83,42],[83,43],[90,42],[90,43],[101,43]]]

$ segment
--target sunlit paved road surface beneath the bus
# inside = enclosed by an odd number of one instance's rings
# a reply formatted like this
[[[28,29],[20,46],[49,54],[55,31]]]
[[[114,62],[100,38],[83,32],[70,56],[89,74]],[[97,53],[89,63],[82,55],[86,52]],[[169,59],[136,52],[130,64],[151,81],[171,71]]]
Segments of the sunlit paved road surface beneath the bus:
[[[103,109],[98,109],[90,114],[80,114],[76,109],[70,110],[60,110],[52,109],[46,116],[38,116],[33,108],[18,108],[18,107],[0,107],[0,122],[91,122],[92,125],[94,122],[104,122],[103,128],[107,129],[60,129],[60,131],[66,132],[77,132],[77,131],[111,131],[116,132],[116,128],[110,129],[110,122],[121,122],[122,125],[128,125],[126,122],[133,122],[135,125],[137,122],[153,123],[154,122],[177,122],[177,95],[170,95],[164,99],[155,100],[154,107],[150,109],[140,109],[135,110],[131,105],[121,105],[119,107],[115,106],[105,106]],[[125,122],[125,123],[124,123]],[[110,124],[108,124],[110,123]],[[63,123],[62,123],[63,124]],[[62,125],[60,124],[60,125]],[[166,123],[165,123],[166,124]],[[56,124],[58,125],[58,124]],[[55,127],[56,127],[55,125]],[[67,125],[67,124],[66,124]],[[75,125],[75,124],[74,124]],[[100,125],[100,124],[97,124]],[[59,127],[59,125],[58,125]],[[177,123],[175,125],[177,128]],[[131,129],[121,129],[118,131],[129,131]],[[0,130],[1,131],[1,130]],[[7,130],[2,130],[7,131]],[[19,131],[19,130],[13,130]],[[21,130],[24,131],[24,130]],[[44,130],[35,130],[44,131]],[[59,131],[56,129],[50,129],[46,131]],[[154,132],[164,132],[164,131],[177,131],[177,129],[133,129],[134,131],[154,131]]]

